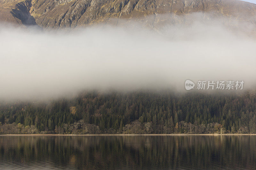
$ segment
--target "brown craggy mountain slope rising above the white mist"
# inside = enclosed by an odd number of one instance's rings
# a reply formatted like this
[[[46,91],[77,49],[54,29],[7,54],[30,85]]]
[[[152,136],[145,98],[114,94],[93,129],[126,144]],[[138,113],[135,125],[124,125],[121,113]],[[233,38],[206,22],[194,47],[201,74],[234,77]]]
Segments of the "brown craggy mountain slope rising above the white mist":
[[[42,28],[74,28],[97,23],[129,25],[131,20],[156,28],[186,23],[202,13],[256,26],[256,4],[238,0],[0,0],[0,20]],[[230,22],[231,22],[230,20]]]

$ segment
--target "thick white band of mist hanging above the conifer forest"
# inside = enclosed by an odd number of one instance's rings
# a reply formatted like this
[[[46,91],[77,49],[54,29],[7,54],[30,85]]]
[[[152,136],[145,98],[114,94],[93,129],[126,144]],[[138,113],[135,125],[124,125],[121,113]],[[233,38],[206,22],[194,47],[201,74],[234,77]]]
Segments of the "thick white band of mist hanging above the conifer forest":
[[[161,31],[134,25],[57,32],[0,26],[0,99],[48,99],[90,89],[182,91],[186,79],[244,80],[244,88],[255,87],[256,41],[245,31],[218,22]]]

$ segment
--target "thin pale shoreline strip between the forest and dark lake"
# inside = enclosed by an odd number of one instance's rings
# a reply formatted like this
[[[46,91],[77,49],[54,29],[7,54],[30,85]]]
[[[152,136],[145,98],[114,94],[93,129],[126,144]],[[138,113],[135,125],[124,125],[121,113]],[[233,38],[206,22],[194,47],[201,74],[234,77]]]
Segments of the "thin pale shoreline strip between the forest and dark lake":
[[[0,136],[254,136],[256,134],[5,134]]]

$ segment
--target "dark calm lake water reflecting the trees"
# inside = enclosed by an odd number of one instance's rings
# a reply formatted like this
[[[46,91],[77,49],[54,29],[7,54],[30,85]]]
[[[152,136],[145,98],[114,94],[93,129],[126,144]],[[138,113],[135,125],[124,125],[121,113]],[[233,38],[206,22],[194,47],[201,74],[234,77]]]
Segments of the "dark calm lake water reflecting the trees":
[[[256,136],[1,136],[0,169],[256,169]]]

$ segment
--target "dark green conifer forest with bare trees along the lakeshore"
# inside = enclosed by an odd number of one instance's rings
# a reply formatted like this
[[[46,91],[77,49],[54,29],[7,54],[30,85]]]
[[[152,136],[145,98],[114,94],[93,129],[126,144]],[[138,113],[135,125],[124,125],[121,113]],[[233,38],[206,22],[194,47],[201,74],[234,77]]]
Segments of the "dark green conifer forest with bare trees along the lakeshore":
[[[1,102],[0,134],[255,134],[255,91],[83,92]]]

